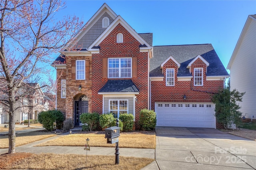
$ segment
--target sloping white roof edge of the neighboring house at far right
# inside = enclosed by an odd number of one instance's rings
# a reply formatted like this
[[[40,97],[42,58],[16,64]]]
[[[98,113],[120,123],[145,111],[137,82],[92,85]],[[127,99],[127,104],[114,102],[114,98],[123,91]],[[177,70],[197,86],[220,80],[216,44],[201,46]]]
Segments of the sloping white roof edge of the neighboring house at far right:
[[[248,28],[249,28],[249,25],[250,25],[252,22],[256,22],[256,15],[249,15],[249,16],[248,16],[248,18],[247,18],[247,20],[246,20],[246,22],[245,22],[245,24],[244,24],[244,28],[243,28],[243,30],[242,30],[242,32],[241,32],[241,34],[240,34],[240,37],[239,37],[239,39],[238,39],[238,41],[237,41],[237,43],[236,43],[236,47],[235,47],[235,49],[234,49],[234,51],[233,51],[233,53],[232,53],[232,56],[231,56],[231,58],[230,58],[230,60],[229,60],[229,62],[228,62],[227,69],[230,69],[230,68],[231,68],[231,66],[232,66],[232,64],[233,64],[233,61],[234,61],[234,59],[235,59],[235,56],[236,56],[236,54],[237,54],[237,52],[238,52],[238,49],[239,49],[240,45],[242,44],[243,38],[244,38],[244,36],[245,36],[245,34],[246,34]]]

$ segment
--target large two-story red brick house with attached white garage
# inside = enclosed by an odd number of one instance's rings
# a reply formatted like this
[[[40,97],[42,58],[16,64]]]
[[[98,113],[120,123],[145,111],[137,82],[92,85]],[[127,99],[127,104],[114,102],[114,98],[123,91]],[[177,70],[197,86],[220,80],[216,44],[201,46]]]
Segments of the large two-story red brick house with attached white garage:
[[[56,106],[80,126],[80,114],[156,111],[157,126],[216,128],[212,95],[229,77],[211,44],[152,46],[107,4],[52,63]]]

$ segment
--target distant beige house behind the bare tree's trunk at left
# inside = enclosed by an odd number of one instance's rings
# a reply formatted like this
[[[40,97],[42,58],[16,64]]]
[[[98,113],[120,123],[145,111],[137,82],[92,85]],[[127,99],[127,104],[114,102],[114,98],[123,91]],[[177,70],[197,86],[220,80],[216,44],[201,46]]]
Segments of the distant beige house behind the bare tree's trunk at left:
[[[44,93],[42,92],[38,83],[24,84],[22,88],[18,90],[18,95],[22,97],[20,102],[18,102],[18,109],[15,116],[16,123],[21,123],[24,120],[28,120],[28,118],[37,119],[38,113],[45,110]],[[4,99],[6,100],[6,95],[1,98],[1,100]],[[4,104],[0,104],[0,108],[4,108],[2,109],[0,123],[8,123],[9,108]]]

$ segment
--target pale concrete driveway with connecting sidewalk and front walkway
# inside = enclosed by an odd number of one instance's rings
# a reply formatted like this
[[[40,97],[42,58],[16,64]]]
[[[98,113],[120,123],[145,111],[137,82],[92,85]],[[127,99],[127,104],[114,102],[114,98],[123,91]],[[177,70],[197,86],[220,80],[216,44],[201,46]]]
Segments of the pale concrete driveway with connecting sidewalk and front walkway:
[[[256,131],[254,131],[256,132]],[[16,147],[16,152],[86,154],[84,147],[35,145],[69,132]],[[0,153],[8,148],[0,149]],[[142,170],[252,170],[256,169],[256,142],[207,128],[156,128],[156,150],[120,148],[120,156],[152,158]],[[91,147],[88,155],[113,155],[115,148]]]

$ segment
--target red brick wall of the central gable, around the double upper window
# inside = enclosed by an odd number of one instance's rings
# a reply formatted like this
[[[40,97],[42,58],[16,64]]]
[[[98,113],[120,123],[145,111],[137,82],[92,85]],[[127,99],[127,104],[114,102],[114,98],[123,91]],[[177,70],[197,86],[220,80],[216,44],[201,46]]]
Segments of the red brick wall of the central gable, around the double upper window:
[[[116,43],[116,35],[123,34],[123,43]],[[140,43],[121,25],[118,24],[100,43],[100,54],[92,54],[92,112],[102,114],[102,95],[98,91],[106,84],[108,78],[102,77],[102,58],[128,54],[137,58],[137,77],[131,78],[140,90],[135,103],[135,120],[138,127],[139,113],[148,108],[148,53],[140,52]],[[121,55],[122,54],[122,55]],[[126,57],[126,55],[123,55]]]

